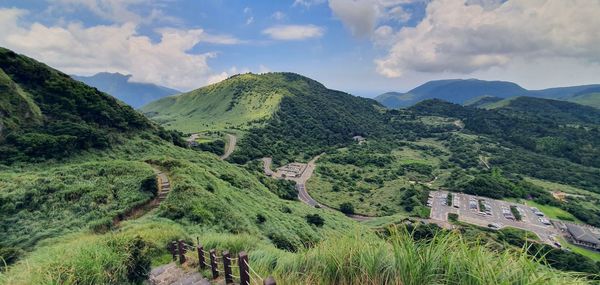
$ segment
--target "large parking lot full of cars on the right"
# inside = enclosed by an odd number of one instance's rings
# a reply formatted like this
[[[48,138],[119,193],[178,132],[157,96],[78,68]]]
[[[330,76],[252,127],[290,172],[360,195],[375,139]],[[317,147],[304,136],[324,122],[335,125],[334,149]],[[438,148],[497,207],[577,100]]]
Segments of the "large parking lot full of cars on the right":
[[[452,195],[452,199],[448,199],[448,195]],[[448,214],[455,213],[458,214],[459,221],[482,227],[514,227],[531,231],[537,234],[541,241],[553,246],[559,233],[543,213],[523,204],[446,191],[431,192],[429,204],[433,220],[447,221]],[[521,215],[520,221],[513,215],[511,206]]]

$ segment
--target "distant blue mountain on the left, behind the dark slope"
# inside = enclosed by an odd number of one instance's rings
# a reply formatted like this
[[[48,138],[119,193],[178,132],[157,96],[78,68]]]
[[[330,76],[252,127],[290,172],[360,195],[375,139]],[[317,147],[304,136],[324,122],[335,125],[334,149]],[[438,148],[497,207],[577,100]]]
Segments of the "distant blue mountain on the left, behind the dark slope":
[[[136,109],[154,100],[181,93],[155,84],[131,82],[131,75],[120,73],[101,72],[93,76],[72,75],[71,77],[113,95]]]

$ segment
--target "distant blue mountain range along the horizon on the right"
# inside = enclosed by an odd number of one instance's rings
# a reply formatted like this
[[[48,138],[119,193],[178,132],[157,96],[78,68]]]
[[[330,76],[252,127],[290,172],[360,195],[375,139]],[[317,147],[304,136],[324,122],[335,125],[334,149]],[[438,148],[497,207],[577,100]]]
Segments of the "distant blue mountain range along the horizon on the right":
[[[506,81],[450,79],[430,81],[406,93],[384,93],[377,96],[375,100],[388,108],[402,108],[427,99],[442,99],[456,104],[474,104],[479,100],[490,103],[490,101],[500,101],[517,96],[570,101],[599,108],[600,84],[527,90],[518,84]]]

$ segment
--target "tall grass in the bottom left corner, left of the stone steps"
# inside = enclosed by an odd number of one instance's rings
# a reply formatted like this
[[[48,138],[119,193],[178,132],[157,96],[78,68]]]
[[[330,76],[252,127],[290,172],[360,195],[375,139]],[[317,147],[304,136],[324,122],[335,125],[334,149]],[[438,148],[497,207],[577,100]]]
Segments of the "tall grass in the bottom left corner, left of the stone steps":
[[[122,231],[75,234],[46,240],[26,259],[0,273],[2,285],[131,284],[147,273],[151,258],[170,260],[169,241],[186,238],[181,226],[167,220],[136,221]]]

